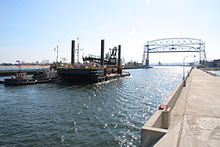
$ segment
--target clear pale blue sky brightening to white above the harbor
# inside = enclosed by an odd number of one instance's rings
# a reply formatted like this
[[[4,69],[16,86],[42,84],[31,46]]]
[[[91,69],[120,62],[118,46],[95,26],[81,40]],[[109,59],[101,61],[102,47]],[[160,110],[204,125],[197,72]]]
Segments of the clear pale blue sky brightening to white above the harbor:
[[[125,61],[142,61],[147,41],[186,37],[205,42],[219,59],[219,0],[0,0],[0,63],[71,59],[79,37],[82,55],[121,45]],[[186,54],[150,54],[150,63],[182,62]],[[194,59],[197,60],[197,59]]]

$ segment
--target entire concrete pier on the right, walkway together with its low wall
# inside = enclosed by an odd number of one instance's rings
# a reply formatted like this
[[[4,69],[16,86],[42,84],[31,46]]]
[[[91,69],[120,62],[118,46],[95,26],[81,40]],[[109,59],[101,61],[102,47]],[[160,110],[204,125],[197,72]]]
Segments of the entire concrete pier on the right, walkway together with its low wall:
[[[220,77],[199,69],[187,77],[142,127],[142,146],[219,146]]]

